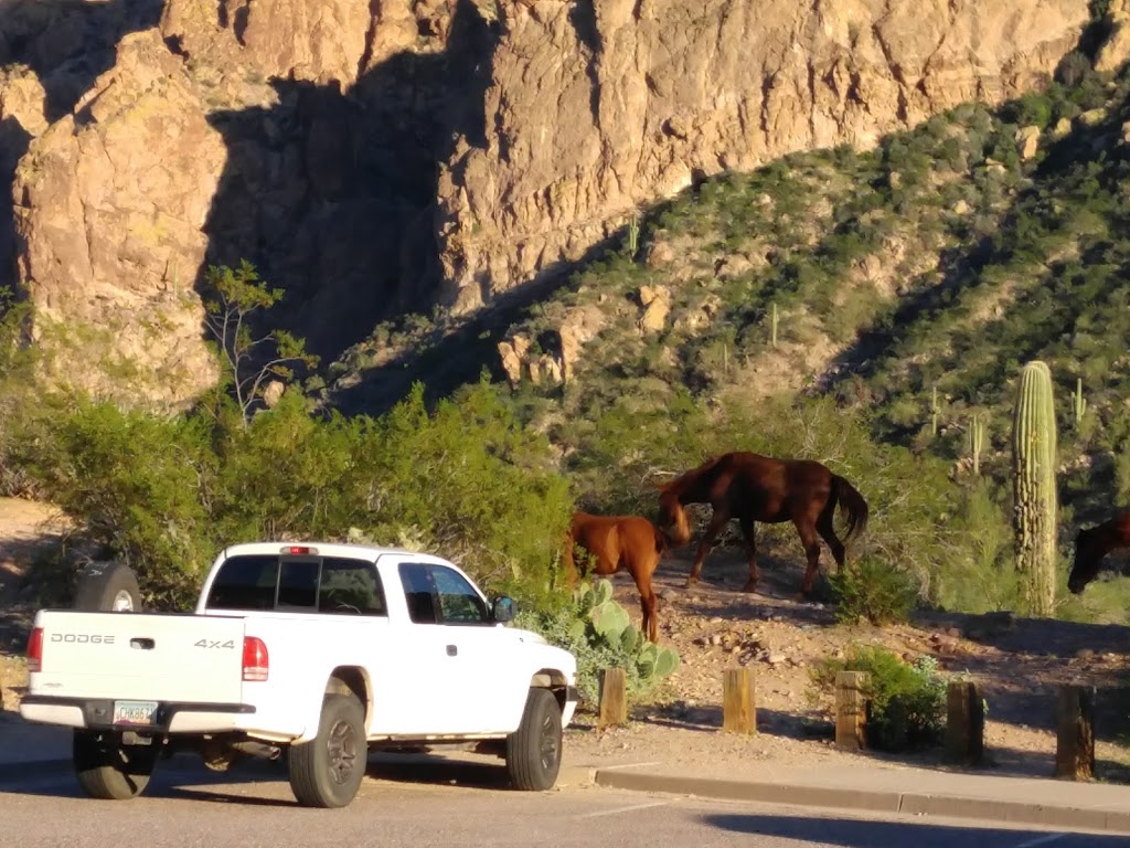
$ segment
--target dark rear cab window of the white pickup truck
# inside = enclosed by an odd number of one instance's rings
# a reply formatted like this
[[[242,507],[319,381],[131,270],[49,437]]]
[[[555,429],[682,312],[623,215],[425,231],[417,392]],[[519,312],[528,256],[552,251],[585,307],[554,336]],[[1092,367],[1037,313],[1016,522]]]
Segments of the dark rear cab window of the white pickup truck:
[[[348,557],[233,556],[208,592],[209,609],[385,615],[376,568]]]

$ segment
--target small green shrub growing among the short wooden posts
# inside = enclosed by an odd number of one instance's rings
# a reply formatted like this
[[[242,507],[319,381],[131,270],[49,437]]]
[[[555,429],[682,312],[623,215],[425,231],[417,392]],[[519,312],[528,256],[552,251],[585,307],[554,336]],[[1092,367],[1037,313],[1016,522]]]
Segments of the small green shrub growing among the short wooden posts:
[[[853,646],[843,659],[828,658],[811,670],[818,694],[835,690],[840,672],[867,672],[871,702],[868,744],[884,751],[907,751],[938,743],[945,728],[946,682],[937,660],[920,657],[913,665],[877,646]]]

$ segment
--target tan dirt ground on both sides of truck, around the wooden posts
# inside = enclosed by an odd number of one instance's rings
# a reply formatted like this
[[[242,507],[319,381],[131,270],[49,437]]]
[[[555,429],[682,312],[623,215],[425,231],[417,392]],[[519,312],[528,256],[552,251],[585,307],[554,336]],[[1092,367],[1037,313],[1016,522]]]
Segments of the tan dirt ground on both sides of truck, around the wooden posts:
[[[23,586],[29,557],[66,531],[49,507],[0,499],[0,721],[26,686],[23,659],[34,596]],[[684,588],[690,548],[668,555],[657,572],[660,641],[673,647],[680,667],[647,703],[631,709],[626,727],[598,730],[589,710],[567,732],[574,763],[662,761],[720,773],[754,762],[781,765],[886,761],[942,767],[941,749],[913,755],[847,754],[832,745],[828,713],[810,699],[810,673],[825,657],[854,643],[881,644],[906,659],[937,658],[947,675],[977,681],[989,707],[985,742],[992,773],[1050,776],[1055,755],[1055,686],[1085,683],[1097,689],[1096,772],[1101,780],[1130,782],[1130,749],[1119,736],[1130,728],[1125,656],[1130,629],[1062,621],[1012,620],[920,613],[912,624],[872,628],[835,623],[820,604],[798,603],[801,566],[780,545],[760,559],[760,591],[744,594],[745,564],[720,548],[706,561],[703,580]],[[774,550],[776,548],[776,550]],[[774,554],[780,553],[782,559]],[[612,579],[617,599],[640,621],[635,585]],[[753,670],[758,733],[724,734],[723,670]]]

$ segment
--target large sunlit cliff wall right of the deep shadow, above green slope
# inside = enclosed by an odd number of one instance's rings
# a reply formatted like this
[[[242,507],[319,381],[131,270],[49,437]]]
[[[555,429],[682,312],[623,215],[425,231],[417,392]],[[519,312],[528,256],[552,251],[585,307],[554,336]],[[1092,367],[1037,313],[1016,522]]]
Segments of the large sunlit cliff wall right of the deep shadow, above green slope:
[[[696,174],[869,146],[1051,75],[1085,0],[510,2],[487,144],[440,184],[447,301],[470,310]]]

